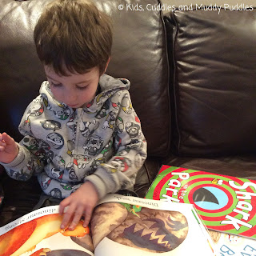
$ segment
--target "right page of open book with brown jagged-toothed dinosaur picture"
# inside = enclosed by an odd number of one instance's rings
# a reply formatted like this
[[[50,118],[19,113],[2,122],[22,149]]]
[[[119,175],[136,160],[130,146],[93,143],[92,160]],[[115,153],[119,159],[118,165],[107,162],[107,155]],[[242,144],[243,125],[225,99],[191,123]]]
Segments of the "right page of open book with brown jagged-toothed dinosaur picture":
[[[96,256],[214,255],[214,244],[192,205],[118,194],[102,202],[91,220]]]

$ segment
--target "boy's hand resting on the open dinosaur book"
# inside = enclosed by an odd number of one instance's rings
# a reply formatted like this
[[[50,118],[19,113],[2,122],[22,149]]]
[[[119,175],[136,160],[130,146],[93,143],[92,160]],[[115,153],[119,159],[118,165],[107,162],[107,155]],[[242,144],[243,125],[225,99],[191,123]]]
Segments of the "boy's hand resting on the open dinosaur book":
[[[59,213],[63,214],[66,206],[69,206],[63,215],[61,229],[65,229],[70,223],[69,230],[74,230],[81,217],[84,216],[83,226],[88,226],[91,214],[98,202],[98,192],[91,182],[85,182],[69,197],[62,200],[59,205]]]

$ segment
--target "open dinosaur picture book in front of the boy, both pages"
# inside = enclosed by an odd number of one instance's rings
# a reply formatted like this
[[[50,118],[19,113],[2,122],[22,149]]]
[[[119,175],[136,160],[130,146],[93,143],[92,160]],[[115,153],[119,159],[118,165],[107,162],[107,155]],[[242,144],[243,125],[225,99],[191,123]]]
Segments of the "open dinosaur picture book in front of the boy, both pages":
[[[34,210],[0,228],[2,256],[214,255],[193,205],[110,194],[89,227],[61,230],[58,206]]]

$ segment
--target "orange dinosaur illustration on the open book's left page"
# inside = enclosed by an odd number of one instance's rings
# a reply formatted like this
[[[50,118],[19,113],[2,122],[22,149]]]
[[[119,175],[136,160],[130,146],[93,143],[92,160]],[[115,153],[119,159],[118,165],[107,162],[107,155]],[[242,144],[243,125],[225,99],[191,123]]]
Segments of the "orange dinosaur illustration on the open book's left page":
[[[82,226],[82,222],[79,222],[73,231],[61,230],[61,223],[61,215],[50,214],[15,227],[0,236],[0,255],[19,256],[25,252],[32,251],[43,239],[49,238],[58,232],[71,237],[83,237],[90,232],[89,227],[84,228]],[[37,251],[32,255],[39,255],[38,253],[40,252]]]

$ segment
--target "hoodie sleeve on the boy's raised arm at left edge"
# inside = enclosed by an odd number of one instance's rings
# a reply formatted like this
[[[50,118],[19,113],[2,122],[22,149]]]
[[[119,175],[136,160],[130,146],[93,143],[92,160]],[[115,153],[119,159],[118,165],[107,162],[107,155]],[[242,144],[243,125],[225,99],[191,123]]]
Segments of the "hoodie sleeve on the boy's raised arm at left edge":
[[[30,108],[34,105],[31,102],[23,114],[22,121],[18,126],[18,130],[24,136],[22,141],[17,143],[18,155],[14,161],[6,164],[1,163],[5,167],[7,174],[14,179],[26,181],[33,174],[38,174],[43,170],[46,161],[46,151],[44,144],[37,138],[30,128]]]

